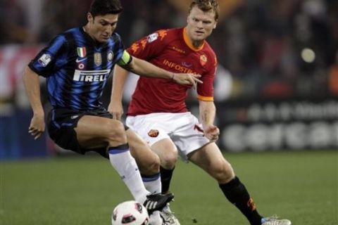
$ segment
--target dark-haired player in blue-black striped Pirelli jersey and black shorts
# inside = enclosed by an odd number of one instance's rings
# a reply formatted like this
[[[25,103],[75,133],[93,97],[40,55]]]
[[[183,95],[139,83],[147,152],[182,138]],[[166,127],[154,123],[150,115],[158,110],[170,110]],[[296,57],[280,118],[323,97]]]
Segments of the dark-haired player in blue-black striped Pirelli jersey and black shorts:
[[[182,85],[195,85],[199,75],[168,72],[130,56],[114,32],[121,11],[119,0],[94,0],[87,25],[58,34],[27,65],[23,82],[33,110],[29,133],[38,139],[45,129],[39,86],[42,76],[53,107],[47,120],[51,139],[76,153],[93,150],[108,158],[134,199],[144,203],[149,213],[157,211],[151,215],[157,225],[162,224],[158,210],[173,199],[171,193],[161,194],[158,156],[134,131],[113,120],[102,105],[102,92],[115,64],[142,76]],[[139,170],[145,184],[158,186],[158,194],[146,190]]]

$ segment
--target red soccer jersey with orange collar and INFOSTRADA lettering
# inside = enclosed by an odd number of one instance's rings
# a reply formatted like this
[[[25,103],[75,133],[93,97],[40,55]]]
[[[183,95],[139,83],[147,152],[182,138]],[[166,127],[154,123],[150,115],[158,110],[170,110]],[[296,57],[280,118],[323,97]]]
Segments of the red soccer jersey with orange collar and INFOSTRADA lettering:
[[[203,84],[197,85],[198,98],[213,101],[215,53],[206,41],[199,49],[194,48],[184,28],[159,30],[136,41],[127,51],[171,72],[201,75]],[[139,77],[127,115],[187,112],[185,100],[190,88],[170,79]]]

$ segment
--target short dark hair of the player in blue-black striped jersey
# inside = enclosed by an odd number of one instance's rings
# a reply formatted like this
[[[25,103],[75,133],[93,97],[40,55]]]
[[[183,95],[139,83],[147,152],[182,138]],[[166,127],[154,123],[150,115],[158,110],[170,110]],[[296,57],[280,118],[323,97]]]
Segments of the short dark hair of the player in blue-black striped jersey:
[[[120,0],[94,0],[89,8],[93,17],[96,15],[119,14],[123,11]]]

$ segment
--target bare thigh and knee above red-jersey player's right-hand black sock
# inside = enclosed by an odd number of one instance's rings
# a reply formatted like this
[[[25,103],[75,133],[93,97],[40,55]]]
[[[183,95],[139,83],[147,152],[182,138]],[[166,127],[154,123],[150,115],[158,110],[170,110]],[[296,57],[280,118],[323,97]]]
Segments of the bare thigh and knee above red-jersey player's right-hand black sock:
[[[222,152],[214,142],[208,143],[199,150],[190,153],[188,158],[220,183],[225,183],[234,177],[232,166],[225,160]]]

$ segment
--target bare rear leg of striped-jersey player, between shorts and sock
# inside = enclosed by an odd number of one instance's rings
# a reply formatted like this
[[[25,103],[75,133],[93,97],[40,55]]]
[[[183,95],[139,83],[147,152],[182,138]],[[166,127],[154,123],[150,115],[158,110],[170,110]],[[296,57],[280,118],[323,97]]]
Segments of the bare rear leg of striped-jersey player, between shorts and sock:
[[[142,174],[154,174],[159,171],[160,160],[151,151],[150,146],[132,129],[127,129],[127,142],[130,146],[130,153],[137,162]]]

